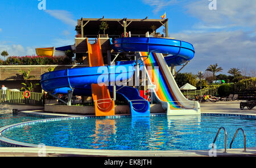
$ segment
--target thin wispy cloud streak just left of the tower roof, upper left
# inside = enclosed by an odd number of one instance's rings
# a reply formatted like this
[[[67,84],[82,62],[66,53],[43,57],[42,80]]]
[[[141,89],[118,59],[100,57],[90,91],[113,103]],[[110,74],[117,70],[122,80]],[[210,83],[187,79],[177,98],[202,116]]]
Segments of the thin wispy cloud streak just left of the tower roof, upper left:
[[[77,21],[72,19],[73,16],[70,12],[65,10],[44,10],[47,14],[53,16],[56,19],[63,21],[63,23],[71,25],[75,27],[77,25]]]

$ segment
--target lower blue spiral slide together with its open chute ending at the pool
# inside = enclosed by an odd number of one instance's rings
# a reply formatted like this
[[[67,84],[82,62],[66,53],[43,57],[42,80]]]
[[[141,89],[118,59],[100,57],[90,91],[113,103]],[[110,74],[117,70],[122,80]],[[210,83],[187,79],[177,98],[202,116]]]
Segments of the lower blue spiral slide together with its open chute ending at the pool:
[[[41,76],[44,91],[52,94],[67,94],[73,89],[73,95],[91,96],[90,84],[108,83],[130,79],[134,74],[133,62],[122,62],[115,66],[82,67],[47,72]],[[112,91],[113,87],[109,87]],[[117,87],[117,94],[125,98],[133,116],[150,116],[149,102],[139,96],[139,92],[131,87]]]

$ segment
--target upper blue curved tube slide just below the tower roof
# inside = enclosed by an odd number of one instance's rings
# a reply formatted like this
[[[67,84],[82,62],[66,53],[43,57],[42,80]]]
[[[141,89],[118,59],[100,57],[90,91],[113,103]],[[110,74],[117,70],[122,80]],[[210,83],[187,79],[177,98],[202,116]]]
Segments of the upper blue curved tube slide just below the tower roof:
[[[110,40],[111,41],[111,40]],[[164,57],[168,66],[179,66],[190,61],[195,49],[189,42],[170,38],[125,37],[115,38],[112,42],[115,51],[145,51],[151,53],[171,54]]]

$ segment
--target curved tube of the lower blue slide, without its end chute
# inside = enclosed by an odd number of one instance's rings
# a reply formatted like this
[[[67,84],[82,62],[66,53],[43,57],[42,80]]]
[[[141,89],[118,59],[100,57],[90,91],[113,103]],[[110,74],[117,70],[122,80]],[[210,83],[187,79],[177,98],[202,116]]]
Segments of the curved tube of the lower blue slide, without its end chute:
[[[121,71],[120,71],[121,70]],[[44,91],[57,93],[59,88],[82,88],[88,84],[127,80],[134,74],[133,64],[120,66],[81,67],[47,72],[41,75]]]

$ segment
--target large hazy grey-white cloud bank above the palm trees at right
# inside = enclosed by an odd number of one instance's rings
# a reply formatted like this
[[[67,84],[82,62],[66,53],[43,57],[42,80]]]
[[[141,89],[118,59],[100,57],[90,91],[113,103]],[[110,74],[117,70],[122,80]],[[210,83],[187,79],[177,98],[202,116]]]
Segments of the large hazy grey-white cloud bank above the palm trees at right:
[[[218,63],[226,74],[229,68],[255,69],[256,36],[243,31],[175,33],[177,40],[193,44],[195,57],[183,71],[204,71],[210,64]]]

